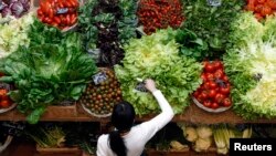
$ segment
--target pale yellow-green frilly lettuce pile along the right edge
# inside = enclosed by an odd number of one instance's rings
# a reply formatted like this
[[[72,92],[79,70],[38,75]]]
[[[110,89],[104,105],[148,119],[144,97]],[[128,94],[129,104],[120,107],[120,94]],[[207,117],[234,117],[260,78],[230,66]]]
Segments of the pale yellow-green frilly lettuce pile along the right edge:
[[[276,116],[276,19],[259,23],[243,12],[232,23],[231,42],[223,61],[232,82],[234,111],[245,118]]]

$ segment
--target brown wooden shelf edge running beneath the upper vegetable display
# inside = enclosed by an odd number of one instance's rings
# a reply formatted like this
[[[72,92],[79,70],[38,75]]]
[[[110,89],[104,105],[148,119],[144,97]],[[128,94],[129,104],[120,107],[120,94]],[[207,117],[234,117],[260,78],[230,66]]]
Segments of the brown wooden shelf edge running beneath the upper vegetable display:
[[[145,115],[138,116],[137,121],[148,121],[155,115]],[[0,114],[0,121],[25,121],[25,116],[19,113],[15,108]],[[41,121],[52,121],[52,122],[109,122],[109,117],[95,117],[87,114],[79,104],[76,104],[75,108],[65,107],[65,106],[50,106],[44,115],[41,117]],[[245,121],[242,117],[237,116],[233,111],[226,111],[223,113],[209,113],[197,105],[191,104],[183,114],[176,115],[173,122],[185,122],[194,124],[219,124],[219,123],[276,123],[276,118],[273,119],[255,119],[255,121]]]

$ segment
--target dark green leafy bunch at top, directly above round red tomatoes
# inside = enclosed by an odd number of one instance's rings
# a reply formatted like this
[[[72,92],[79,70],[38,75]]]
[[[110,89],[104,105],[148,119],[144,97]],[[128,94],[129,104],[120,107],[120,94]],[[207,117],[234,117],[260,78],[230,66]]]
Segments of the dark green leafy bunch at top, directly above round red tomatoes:
[[[209,59],[221,58],[229,43],[230,25],[244,6],[243,0],[221,0],[217,6],[211,0],[182,0],[185,22],[183,28],[193,31],[208,43]]]

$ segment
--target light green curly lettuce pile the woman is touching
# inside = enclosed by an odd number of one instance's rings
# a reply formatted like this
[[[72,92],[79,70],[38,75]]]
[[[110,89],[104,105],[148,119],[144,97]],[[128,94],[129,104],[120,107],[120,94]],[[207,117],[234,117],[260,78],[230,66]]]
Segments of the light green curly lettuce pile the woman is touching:
[[[116,65],[115,72],[124,100],[134,105],[137,114],[156,113],[159,108],[152,95],[135,90],[137,79],[153,79],[176,113],[183,112],[189,105],[190,93],[201,84],[202,65],[193,59],[179,56],[176,33],[171,29],[160,30],[131,39],[124,46],[123,65]]]

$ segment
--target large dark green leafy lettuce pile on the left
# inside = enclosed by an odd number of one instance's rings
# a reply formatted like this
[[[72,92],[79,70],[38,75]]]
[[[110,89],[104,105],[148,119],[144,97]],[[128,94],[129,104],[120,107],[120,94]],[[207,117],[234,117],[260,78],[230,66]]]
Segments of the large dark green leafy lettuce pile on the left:
[[[47,34],[59,31],[34,22],[29,37],[36,41],[0,61],[0,71],[6,74],[0,81],[14,83],[10,97],[20,112],[29,114],[31,124],[39,121],[47,105],[78,100],[96,72],[93,59],[83,53],[78,33],[65,33],[60,41],[47,39],[53,38]],[[42,35],[35,38],[39,33]]]

